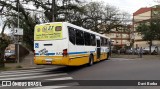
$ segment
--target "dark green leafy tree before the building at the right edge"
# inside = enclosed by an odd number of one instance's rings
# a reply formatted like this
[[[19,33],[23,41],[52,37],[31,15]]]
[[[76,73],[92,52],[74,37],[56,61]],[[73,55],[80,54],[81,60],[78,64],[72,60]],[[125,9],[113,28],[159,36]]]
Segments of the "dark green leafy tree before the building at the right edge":
[[[140,23],[136,29],[142,35],[142,39],[148,41],[151,53],[152,41],[160,40],[160,20],[151,19],[150,22]]]

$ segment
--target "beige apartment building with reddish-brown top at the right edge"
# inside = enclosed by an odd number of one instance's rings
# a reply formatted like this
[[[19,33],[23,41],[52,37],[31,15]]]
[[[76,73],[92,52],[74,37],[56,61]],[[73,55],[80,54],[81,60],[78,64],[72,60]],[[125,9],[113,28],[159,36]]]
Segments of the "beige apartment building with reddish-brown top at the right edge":
[[[136,27],[140,23],[149,23],[152,18],[155,18],[158,15],[157,12],[160,11],[159,9],[160,6],[153,6],[153,7],[144,7],[140,8],[136,12],[133,13],[133,29],[132,33],[134,34],[134,48],[137,47],[148,47],[149,44],[147,41],[144,41],[142,39],[142,35],[136,31]],[[154,40],[153,45],[160,46],[160,41]]]

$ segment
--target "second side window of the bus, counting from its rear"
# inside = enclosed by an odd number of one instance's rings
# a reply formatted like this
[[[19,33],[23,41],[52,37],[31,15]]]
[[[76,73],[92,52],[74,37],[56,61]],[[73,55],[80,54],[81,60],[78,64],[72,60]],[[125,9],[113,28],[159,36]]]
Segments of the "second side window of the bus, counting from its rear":
[[[83,31],[76,29],[76,44],[84,45],[84,34]]]

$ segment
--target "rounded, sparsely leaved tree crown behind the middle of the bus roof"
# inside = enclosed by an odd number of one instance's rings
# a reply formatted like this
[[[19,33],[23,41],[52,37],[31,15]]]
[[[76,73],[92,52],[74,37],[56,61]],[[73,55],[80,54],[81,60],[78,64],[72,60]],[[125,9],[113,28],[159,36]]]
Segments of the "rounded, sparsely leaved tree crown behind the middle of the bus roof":
[[[128,19],[128,13],[103,2],[90,2],[84,6],[83,27],[96,32],[109,33]]]

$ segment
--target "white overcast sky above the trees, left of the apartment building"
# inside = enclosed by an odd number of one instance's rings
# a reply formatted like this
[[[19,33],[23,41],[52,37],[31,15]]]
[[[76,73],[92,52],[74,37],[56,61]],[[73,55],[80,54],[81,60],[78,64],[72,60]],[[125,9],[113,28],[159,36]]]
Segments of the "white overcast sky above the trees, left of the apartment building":
[[[91,1],[103,1],[109,5],[114,5],[120,10],[124,10],[133,14],[141,7],[150,7],[156,5],[155,0],[91,0]]]

